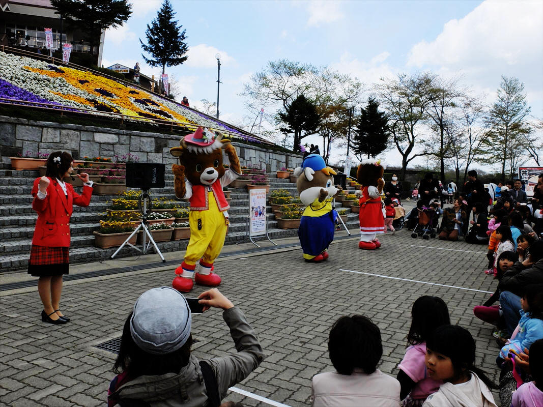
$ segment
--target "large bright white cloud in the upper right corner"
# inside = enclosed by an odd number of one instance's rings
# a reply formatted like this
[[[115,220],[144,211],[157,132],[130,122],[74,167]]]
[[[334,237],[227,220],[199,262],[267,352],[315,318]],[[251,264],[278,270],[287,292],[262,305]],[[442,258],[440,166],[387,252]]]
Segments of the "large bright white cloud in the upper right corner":
[[[543,2],[485,1],[464,18],[447,22],[435,40],[415,44],[407,65],[483,70],[541,62],[542,49]]]

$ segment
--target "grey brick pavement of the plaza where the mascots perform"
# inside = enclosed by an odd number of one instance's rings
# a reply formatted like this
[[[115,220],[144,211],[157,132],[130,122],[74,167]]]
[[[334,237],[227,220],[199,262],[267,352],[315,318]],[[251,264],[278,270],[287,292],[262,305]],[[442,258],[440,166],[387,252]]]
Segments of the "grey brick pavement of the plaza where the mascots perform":
[[[309,405],[311,377],[333,370],[326,347],[330,326],[340,315],[353,313],[370,316],[381,328],[380,369],[395,376],[406,347],[411,305],[421,295],[445,300],[452,323],[476,338],[477,363],[497,380],[498,347],[491,327],[471,311],[490,294],[340,271],[494,291],[496,282],[482,272],[484,246],[412,239],[409,234],[403,230],[382,236],[383,247],[375,252],[359,250],[356,237],[337,241],[330,259],[321,264],[305,263],[299,249],[220,259],[220,290],[243,309],[267,354],[238,387],[291,406]],[[136,298],[148,288],[169,285],[172,277],[173,270],[162,270],[70,282],[62,308],[72,322],[65,326],[40,321],[35,289],[2,292],[0,406],[104,405],[115,355],[93,346],[119,336]],[[195,316],[193,334],[197,356],[233,351],[218,310]],[[266,405],[235,392],[226,399]]]

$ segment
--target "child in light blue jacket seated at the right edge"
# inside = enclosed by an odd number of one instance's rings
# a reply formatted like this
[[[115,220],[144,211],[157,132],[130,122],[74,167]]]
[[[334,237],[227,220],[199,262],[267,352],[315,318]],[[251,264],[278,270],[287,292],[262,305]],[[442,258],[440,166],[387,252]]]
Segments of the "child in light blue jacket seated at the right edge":
[[[511,349],[520,353],[525,348],[529,350],[536,340],[543,339],[543,284],[527,285],[520,304],[522,310],[519,325],[502,347],[496,360],[498,366],[503,365]]]

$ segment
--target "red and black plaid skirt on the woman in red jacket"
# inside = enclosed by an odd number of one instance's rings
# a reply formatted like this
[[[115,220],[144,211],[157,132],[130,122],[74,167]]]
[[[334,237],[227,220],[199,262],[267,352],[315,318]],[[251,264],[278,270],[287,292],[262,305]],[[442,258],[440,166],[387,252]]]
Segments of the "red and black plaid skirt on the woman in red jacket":
[[[28,274],[33,276],[59,276],[68,274],[70,267],[69,247],[45,247],[32,245],[28,260]]]

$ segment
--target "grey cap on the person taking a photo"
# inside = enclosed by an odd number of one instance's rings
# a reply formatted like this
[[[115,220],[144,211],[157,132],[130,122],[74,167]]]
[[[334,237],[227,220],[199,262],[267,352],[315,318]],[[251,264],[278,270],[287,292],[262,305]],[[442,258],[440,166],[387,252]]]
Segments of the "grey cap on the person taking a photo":
[[[171,353],[191,335],[191,310],[172,287],[151,288],[134,304],[130,333],[136,345],[153,354]]]

